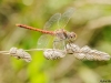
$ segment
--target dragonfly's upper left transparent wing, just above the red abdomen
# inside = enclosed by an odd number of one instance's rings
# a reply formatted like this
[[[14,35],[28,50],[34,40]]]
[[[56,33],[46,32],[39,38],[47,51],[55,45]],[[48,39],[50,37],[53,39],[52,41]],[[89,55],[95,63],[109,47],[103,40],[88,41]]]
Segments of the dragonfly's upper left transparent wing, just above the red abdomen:
[[[58,27],[58,22],[59,22],[59,19],[61,18],[61,13],[56,13],[53,14],[49,21],[44,24],[43,29],[44,30],[53,30],[54,28],[53,27]]]

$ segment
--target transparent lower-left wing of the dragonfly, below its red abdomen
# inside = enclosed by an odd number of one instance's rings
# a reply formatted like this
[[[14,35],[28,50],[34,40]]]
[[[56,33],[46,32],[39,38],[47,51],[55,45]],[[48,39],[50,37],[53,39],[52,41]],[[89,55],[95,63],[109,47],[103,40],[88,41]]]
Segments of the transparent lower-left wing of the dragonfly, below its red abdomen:
[[[38,49],[50,49],[53,45],[53,37],[49,35],[49,34],[43,34],[39,38],[38,43],[37,43],[37,48]]]

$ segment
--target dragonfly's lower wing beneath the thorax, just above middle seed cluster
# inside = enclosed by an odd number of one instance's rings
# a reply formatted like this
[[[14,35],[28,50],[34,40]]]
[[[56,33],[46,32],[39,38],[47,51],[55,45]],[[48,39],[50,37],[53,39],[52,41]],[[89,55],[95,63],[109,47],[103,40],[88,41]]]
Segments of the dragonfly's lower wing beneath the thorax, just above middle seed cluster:
[[[64,40],[60,40],[59,38],[56,37],[54,41],[53,41],[53,48],[63,50],[64,46],[65,46],[65,41]]]

